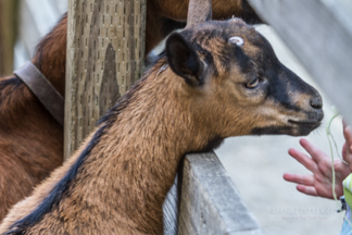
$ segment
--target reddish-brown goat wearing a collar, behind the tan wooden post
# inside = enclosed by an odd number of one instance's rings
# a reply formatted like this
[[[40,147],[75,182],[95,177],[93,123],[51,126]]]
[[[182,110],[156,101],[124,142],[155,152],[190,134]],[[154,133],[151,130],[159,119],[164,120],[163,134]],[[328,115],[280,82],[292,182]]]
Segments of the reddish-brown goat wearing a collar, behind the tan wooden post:
[[[216,18],[260,20],[244,0],[214,0]],[[147,52],[185,21],[188,1],[148,0]],[[226,8],[225,8],[226,7]],[[66,15],[40,41],[33,63],[64,96]],[[62,163],[63,129],[15,76],[0,78],[0,221],[17,201]]]

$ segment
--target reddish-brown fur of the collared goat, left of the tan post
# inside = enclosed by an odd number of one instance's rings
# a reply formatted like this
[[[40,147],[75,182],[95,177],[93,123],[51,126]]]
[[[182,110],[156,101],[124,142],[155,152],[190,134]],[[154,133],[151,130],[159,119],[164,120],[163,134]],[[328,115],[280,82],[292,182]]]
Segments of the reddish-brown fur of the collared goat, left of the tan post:
[[[64,18],[41,40],[33,59],[61,95],[65,86],[65,29]],[[63,129],[17,77],[0,78],[0,94],[1,221],[14,203],[62,164]]]

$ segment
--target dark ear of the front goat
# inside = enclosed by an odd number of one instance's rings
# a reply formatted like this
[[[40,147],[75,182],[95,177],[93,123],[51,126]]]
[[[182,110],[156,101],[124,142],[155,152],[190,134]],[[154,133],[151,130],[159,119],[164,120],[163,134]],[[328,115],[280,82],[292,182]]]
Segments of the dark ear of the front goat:
[[[166,57],[171,69],[184,77],[186,83],[193,86],[204,83],[203,63],[180,34],[174,33],[167,38]]]

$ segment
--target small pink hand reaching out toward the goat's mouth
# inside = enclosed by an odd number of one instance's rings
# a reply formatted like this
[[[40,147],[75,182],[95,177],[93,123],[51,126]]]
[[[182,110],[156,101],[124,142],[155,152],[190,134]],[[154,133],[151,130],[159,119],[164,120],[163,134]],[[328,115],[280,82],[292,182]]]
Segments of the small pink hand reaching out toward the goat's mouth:
[[[348,144],[345,143],[343,147],[342,157],[344,161],[351,163],[349,168],[341,160],[334,161],[337,197],[343,195],[342,181],[352,172],[351,127],[344,125],[343,134]],[[310,170],[313,175],[286,173],[284,178],[297,183],[297,189],[303,194],[334,199],[331,158],[304,138],[300,139],[300,144],[311,154],[311,158],[293,148],[289,149],[289,154]]]

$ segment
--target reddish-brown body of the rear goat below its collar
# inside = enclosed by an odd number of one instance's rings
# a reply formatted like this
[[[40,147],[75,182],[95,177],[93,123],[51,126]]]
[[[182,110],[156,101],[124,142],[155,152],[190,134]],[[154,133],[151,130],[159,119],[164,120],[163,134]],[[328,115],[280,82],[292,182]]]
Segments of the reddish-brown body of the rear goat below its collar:
[[[14,77],[0,79],[0,86]],[[2,87],[1,87],[2,88]],[[24,85],[0,88],[0,219],[62,163],[62,127]]]

